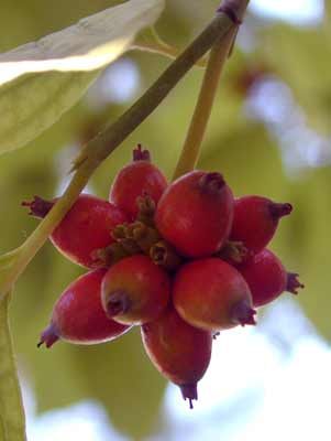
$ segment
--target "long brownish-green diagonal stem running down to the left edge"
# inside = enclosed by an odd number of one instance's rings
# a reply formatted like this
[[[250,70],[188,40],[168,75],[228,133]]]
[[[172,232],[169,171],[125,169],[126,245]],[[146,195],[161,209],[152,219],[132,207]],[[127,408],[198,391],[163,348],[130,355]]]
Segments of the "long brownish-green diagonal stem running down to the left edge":
[[[243,10],[249,3],[249,0],[238,1]],[[201,34],[169,65],[130,109],[87,143],[73,164],[71,171],[76,171],[76,173],[64,195],[56,202],[25,243],[4,256],[5,261],[8,257],[11,258],[9,267],[2,267],[0,258],[0,301],[12,289],[19,276],[64,218],[100,163],[158,107],[169,92],[195,63],[209,51],[216,41],[228,40],[229,31],[232,30],[233,32],[236,28],[227,13],[218,13]]]

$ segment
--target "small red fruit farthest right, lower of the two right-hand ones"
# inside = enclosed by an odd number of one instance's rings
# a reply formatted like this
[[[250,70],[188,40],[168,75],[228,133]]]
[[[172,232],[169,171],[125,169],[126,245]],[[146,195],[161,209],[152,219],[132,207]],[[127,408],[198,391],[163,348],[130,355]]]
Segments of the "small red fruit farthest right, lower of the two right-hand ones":
[[[287,272],[278,257],[268,249],[255,255],[238,270],[251,289],[254,306],[269,303],[284,291],[296,294],[298,288],[304,288],[298,275]]]

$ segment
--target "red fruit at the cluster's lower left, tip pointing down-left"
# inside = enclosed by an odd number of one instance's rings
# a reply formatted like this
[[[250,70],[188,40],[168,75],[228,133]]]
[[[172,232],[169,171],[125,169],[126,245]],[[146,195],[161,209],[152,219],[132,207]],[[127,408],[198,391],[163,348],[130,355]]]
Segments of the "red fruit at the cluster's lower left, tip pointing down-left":
[[[114,340],[130,326],[109,320],[101,306],[101,281],[106,270],[79,277],[54,305],[51,324],[41,335],[38,346],[51,347],[57,340],[76,344],[96,344]]]

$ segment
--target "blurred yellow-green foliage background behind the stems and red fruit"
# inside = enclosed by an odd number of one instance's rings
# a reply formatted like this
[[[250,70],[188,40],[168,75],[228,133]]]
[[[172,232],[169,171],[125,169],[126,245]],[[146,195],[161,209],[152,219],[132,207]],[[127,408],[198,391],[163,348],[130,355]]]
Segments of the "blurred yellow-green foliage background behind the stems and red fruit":
[[[0,51],[118,3],[2,0]],[[165,41],[184,47],[218,4],[214,0],[168,0],[157,30]],[[330,3],[326,6],[330,9]],[[331,23],[322,17],[297,23],[275,20],[263,6],[253,7],[227,66],[199,166],[221,171],[236,195],[263,194],[293,203],[295,211],[283,220],[272,248],[288,269],[300,273],[306,289],[296,300],[330,342]],[[20,245],[36,226],[20,203],[34,194],[58,194],[81,143],[115,119],[168,63],[158,55],[125,54],[31,146],[0,157],[1,252]],[[88,191],[107,197],[114,174],[137,142],[151,150],[170,178],[201,77],[201,69],[192,69],[104,161]],[[111,344],[79,347],[59,343],[49,352],[36,349],[55,299],[81,272],[47,244],[16,284],[11,316],[14,341],[37,410],[93,399],[104,406],[111,423],[132,439],[157,433],[166,423],[159,411],[166,381],[146,358],[139,330]],[[184,406],[179,395],[177,400]]]

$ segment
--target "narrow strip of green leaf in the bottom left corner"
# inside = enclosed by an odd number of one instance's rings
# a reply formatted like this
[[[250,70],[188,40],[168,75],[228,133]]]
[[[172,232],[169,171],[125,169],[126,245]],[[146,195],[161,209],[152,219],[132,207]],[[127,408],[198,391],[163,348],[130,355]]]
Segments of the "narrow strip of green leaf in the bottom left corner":
[[[0,303],[0,435],[3,441],[24,441],[25,417],[12,347],[9,302],[10,294]]]

